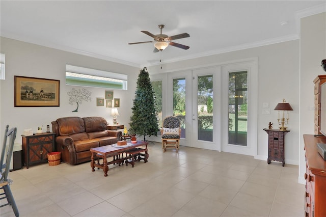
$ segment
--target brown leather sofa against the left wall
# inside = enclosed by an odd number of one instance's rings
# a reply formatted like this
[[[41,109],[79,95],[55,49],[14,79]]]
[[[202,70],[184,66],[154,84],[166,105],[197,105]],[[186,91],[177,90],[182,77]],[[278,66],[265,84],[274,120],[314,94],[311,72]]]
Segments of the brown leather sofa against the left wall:
[[[52,121],[61,160],[71,165],[91,160],[90,149],[120,141],[122,132],[107,130],[102,117],[65,117]]]

